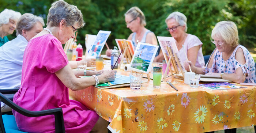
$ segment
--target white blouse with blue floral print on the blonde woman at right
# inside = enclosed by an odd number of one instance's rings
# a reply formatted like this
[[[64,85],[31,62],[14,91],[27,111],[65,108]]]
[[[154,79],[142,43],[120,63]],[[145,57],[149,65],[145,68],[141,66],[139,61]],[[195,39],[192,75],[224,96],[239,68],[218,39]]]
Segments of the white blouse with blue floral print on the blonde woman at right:
[[[241,47],[244,52],[244,57],[246,63],[242,65],[240,62],[238,62],[235,58],[237,49]],[[217,52],[212,55],[215,50]],[[255,62],[253,61],[252,55],[249,53],[249,51],[242,45],[238,45],[234,52],[231,54],[228,60],[223,60],[222,58],[222,52],[219,52],[216,48],[211,56],[214,56],[212,67],[207,68],[208,62],[206,64],[206,73],[208,72],[215,72],[215,73],[235,73],[236,69],[241,67],[242,71],[244,73],[245,81],[244,83],[256,83],[256,77],[255,77]]]

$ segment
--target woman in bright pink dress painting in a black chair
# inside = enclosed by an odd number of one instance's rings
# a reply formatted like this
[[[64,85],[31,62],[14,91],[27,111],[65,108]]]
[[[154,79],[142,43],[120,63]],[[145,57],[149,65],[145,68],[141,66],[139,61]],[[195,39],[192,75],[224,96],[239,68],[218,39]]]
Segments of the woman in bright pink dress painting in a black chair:
[[[84,26],[80,10],[63,0],[49,9],[47,27],[31,38],[24,52],[22,80],[14,103],[39,111],[61,107],[67,133],[107,132],[108,121],[82,103],[69,100],[68,88],[77,91],[115,79],[116,71],[72,71],[61,44]],[[87,75],[89,77],[78,78]],[[90,76],[92,75],[92,76]],[[97,76],[96,76],[97,75]],[[25,117],[13,110],[18,128],[25,132],[55,132],[54,116]]]

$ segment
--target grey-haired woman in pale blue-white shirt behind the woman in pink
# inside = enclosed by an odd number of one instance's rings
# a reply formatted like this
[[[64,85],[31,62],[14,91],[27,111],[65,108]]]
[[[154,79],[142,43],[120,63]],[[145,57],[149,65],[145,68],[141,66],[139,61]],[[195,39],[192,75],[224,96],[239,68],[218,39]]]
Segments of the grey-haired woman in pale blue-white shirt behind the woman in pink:
[[[0,47],[0,89],[20,87],[24,50],[44,25],[43,18],[33,14],[26,13],[19,18],[17,37]],[[1,102],[1,111],[11,111],[11,108]]]

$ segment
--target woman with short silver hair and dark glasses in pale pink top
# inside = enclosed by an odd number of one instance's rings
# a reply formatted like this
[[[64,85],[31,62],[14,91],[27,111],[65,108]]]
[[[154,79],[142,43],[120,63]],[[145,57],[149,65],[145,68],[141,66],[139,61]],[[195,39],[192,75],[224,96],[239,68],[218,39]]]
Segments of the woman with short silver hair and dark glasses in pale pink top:
[[[171,13],[166,19],[167,31],[176,40],[181,61],[186,61],[185,53],[188,60],[197,67],[204,66],[204,57],[202,53],[203,43],[195,35],[187,33],[187,17],[180,12]],[[184,47],[182,47],[182,45]],[[162,62],[164,60],[162,51],[155,57],[154,61]]]

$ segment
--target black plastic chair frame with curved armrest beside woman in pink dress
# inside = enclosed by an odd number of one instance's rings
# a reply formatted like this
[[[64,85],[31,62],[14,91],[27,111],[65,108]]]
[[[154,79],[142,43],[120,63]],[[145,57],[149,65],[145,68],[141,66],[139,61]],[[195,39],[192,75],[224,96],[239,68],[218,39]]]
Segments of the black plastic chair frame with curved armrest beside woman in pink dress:
[[[39,116],[45,116],[45,115],[54,115],[55,132],[56,133],[65,133],[62,108],[42,110],[42,111],[29,111],[29,110],[23,109],[22,107],[18,106],[17,104],[12,102],[10,99],[5,97],[1,93],[0,93],[0,101],[7,104],[9,107],[14,109],[18,113],[25,115],[27,117],[39,117]],[[1,110],[0,110],[0,127],[1,127],[2,133],[5,133],[4,121],[3,121]]]

